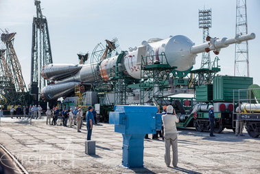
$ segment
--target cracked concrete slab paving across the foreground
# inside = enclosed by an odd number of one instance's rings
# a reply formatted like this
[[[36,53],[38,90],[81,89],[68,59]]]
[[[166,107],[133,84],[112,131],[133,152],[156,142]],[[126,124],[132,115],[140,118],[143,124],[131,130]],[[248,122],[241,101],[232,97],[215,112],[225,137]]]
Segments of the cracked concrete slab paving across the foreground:
[[[94,126],[96,155],[84,153],[86,126],[77,129],[46,125],[46,118],[1,118],[0,144],[29,173],[260,173],[260,138],[235,137],[224,130],[215,138],[195,129],[178,129],[178,168],[167,168],[163,140],[145,140],[145,168],[121,166],[121,134],[112,124]],[[150,135],[152,137],[152,135]]]

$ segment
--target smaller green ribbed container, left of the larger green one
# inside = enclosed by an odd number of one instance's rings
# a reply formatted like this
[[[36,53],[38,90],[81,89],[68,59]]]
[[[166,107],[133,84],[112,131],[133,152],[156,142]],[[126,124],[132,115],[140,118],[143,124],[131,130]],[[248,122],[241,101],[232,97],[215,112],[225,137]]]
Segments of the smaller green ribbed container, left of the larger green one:
[[[213,100],[213,85],[200,85],[196,87],[196,101],[209,102]]]

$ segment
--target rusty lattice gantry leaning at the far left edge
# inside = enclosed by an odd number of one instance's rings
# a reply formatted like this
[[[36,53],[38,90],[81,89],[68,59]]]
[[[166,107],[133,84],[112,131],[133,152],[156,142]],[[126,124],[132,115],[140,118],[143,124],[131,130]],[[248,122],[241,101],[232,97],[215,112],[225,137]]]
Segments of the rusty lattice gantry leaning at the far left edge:
[[[14,50],[15,32],[1,34],[5,49],[0,50],[1,98],[5,105],[25,105],[27,88],[21,72],[21,65]],[[5,56],[6,54],[6,56]]]

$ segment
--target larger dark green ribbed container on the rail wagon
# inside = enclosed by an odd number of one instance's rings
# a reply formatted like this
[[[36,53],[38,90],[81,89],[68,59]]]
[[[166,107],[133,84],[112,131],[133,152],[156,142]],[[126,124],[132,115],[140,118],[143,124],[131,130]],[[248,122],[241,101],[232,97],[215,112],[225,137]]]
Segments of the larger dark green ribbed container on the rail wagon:
[[[233,102],[233,90],[248,89],[250,85],[252,85],[251,77],[215,76],[213,78],[213,100]],[[246,96],[246,92],[242,95]],[[237,96],[235,97],[237,98]]]

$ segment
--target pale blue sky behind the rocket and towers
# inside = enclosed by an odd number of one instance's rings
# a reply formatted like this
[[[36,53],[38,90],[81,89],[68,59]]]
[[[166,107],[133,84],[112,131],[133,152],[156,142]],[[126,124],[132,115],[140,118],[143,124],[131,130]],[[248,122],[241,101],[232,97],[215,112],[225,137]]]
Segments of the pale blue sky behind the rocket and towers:
[[[260,1],[247,1],[250,77],[260,85]],[[209,35],[222,39],[235,37],[236,0],[42,0],[47,18],[54,63],[78,64],[78,53],[93,52],[98,43],[117,37],[121,50],[139,46],[151,38],[166,39],[184,35],[193,43],[202,41],[198,28],[198,10],[212,10]],[[25,84],[29,85],[32,49],[32,19],[36,16],[34,0],[0,0],[0,28],[16,32],[14,50],[21,63]],[[1,45],[0,45],[1,46]],[[200,67],[202,54],[196,65]],[[235,45],[220,51],[220,75],[234,75]],[[215,54],[211,52],[211,60]],[[243,65],[244,66],[244,65]],[[241,72],[243,74],[243,72]]]

